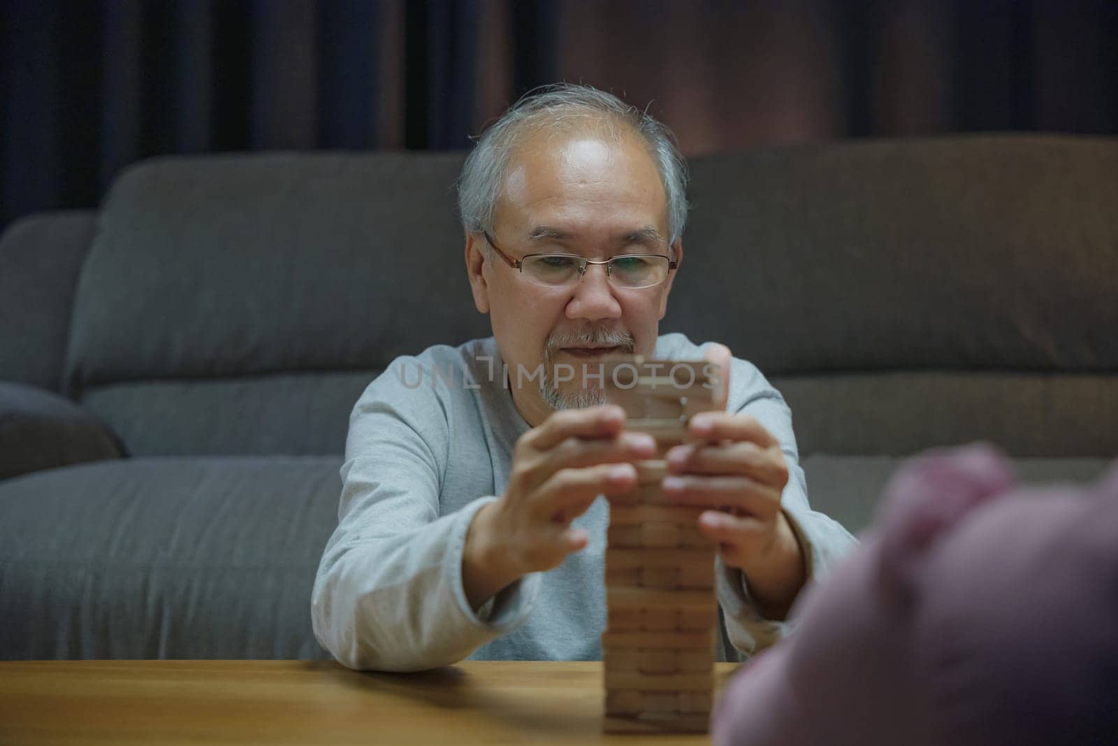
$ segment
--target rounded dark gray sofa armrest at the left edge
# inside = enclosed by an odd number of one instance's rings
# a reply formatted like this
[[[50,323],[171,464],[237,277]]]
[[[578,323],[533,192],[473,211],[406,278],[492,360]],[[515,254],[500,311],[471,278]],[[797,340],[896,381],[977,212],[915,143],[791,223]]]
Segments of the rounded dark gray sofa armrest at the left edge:
[[[0,380],[0,480],[123,455],[113,434],[74,402]]]

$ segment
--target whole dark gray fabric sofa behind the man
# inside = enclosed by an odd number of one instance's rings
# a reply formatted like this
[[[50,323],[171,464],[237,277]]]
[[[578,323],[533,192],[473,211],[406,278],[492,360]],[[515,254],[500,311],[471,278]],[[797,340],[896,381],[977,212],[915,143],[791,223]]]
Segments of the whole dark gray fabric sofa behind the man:
[[[0,658],[321,658],[310,589],[349,412],[489,333],[461,154],[159,159],[0,243]],[[780,388],[814,504],[985,438],[1030,479],[1118,454],[1118,141],[968,136],[692,161],[663,331]]]

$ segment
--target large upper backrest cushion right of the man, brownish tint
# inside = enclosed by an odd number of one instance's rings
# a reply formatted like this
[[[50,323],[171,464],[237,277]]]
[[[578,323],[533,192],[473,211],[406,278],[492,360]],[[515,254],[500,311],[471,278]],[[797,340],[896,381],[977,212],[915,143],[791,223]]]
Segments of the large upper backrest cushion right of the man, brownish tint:
[[[694,159],[665,328],[768,375],[1118,369],[1118,139]]]

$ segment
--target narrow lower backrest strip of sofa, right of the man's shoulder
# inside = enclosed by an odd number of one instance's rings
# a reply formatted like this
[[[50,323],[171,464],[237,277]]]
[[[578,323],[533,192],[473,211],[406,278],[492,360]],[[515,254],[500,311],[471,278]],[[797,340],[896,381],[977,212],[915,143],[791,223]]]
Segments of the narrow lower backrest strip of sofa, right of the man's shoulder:
[[[1017,456],[1118,454],[1118,376],[995,370],[778,376],[802,455],[903,456],[976,440]]]

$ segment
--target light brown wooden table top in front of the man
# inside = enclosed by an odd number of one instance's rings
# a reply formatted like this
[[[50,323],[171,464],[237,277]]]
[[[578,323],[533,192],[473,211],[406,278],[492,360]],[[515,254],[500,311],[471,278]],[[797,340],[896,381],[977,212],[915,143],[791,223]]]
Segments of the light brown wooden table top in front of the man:
[[[733,663],[719,663],[721,686]],[[601,663],[0,662],[0,744],[704,744],[606,736]]]

